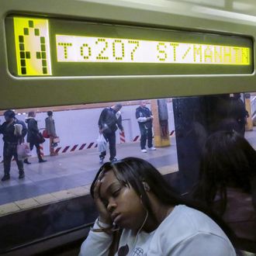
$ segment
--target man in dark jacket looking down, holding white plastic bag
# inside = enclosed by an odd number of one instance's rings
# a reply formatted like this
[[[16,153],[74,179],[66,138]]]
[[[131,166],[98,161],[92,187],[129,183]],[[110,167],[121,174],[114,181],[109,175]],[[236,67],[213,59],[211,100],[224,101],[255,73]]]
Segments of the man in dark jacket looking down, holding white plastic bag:
[[[119,111],[121,104],[102,110],[99,116],[99,133],[103,133],[106,141],[109,142],[109,161],[116,161],[116,130],[117,127],[123,132],[122,116]],[[99,162],[102,163],[106,157],[106,150],[99,155]]]

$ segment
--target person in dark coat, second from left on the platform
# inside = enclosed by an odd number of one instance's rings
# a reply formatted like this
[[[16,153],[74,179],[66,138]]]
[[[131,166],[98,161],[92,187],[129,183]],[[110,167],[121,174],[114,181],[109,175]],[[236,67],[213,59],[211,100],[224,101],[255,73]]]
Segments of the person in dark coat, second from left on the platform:
[[[38,129],[37,121],[36,121],[35,117],[36,117],[36,113],[33,111],[30,111],[28,114],[28,118],[25,121],[28,124],[28,135],[26,137],[26,141],[29,142],[30,150],[33,150],[34,146],[36,147],[36,154],[38,157],[38,161],[40,163],[43,163],[43,162],[46,162],[46,160],[43,160],[43,157],[41,156],[40,141],[39,141],[39,129]],[[24,163],[31,164],[27,158],[24,160]]]

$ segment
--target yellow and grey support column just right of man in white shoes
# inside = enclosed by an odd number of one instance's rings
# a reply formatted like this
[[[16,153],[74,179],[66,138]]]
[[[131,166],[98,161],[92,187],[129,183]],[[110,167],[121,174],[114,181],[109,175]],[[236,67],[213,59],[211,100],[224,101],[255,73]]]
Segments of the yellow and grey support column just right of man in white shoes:
[[[167,147],[170,146],[170,136],[168,129],[168,109],[166,99],[152,99],[151,112],[154,116],[154,146]]]

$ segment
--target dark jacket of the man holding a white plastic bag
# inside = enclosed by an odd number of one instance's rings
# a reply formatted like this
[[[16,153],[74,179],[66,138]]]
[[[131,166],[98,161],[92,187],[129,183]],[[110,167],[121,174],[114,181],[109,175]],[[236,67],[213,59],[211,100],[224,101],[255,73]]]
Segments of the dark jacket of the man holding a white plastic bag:
[[[115,132],[117,127],[119,130],[123,130],[122,116],[120,112],[116,112],[112,108],[106,108],[102,110],[99,116],[99,130],[103,130],[105,133]]]

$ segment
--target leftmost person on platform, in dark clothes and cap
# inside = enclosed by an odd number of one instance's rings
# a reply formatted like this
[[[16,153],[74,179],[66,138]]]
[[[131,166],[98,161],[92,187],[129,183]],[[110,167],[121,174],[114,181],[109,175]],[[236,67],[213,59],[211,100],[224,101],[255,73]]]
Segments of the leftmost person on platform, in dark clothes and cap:
[[[0,126],[0,133],[3,134],[4,140],[4,172],[5,175],[2,177],[2,182],[10,179],[10,168],[12,156],[14,157],[18,169],[19,178],[24,178],[24,167],[22,160],[18,159],[17,145],[24,140],[26,136],[26,124],[15,117],[15,112],[7,110],[4,112],[5,123]]]

